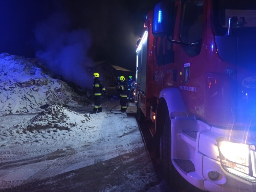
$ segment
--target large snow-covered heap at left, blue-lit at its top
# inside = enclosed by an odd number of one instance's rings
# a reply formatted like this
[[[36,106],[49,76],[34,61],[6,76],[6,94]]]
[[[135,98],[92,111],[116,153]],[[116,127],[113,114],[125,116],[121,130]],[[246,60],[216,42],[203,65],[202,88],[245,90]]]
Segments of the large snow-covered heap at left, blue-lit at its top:
[[[89,102],[45,71],[36,59],[0,54],[0,116],[38,113],[42,106],[56,104],[78,108]]]

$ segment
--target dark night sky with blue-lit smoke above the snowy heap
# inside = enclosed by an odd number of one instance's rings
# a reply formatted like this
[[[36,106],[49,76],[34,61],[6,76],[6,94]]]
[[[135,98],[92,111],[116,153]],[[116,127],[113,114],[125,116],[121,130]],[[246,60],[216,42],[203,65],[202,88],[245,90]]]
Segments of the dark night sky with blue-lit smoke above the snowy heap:
[[[1,53],[40,58],[53,70],[107,61],[135,71],[136,42],[157,0],[0,2]]]

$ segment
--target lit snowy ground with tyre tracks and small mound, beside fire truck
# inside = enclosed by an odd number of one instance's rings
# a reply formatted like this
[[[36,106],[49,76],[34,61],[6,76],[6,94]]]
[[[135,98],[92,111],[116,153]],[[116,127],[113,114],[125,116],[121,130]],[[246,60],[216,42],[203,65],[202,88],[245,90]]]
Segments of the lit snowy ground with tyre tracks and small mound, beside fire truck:
[[[89,115],[51,106],[37,115],[2,116],[0,186],[77,170],[144,148],[134,117]]]

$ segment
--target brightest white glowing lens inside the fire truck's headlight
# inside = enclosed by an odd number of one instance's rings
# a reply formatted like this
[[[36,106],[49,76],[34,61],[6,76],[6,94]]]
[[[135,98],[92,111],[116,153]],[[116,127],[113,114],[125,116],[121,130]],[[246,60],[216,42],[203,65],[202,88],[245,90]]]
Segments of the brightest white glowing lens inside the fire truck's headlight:
[[[241,143],[232,143],[228,141],[222,141],[219,143],[219,149],[222,155],[229,161],[249,165],[249,146]]]

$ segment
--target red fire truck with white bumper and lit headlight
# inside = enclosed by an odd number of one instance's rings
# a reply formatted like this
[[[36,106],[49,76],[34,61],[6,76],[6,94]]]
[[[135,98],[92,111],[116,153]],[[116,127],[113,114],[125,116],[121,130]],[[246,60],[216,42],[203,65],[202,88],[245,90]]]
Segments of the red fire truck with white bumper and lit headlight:
[[[168,184],[256,191],[256,1],[156,4],[136,45],[136,99]]]

